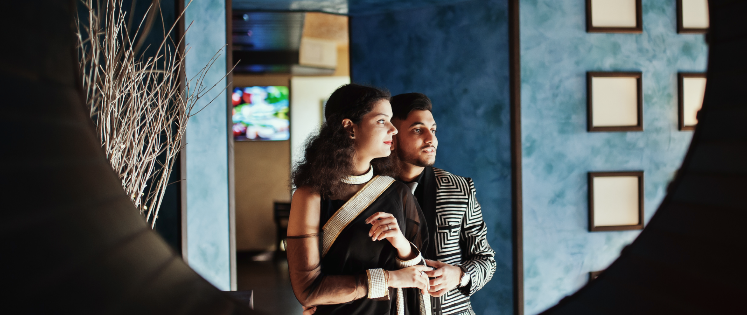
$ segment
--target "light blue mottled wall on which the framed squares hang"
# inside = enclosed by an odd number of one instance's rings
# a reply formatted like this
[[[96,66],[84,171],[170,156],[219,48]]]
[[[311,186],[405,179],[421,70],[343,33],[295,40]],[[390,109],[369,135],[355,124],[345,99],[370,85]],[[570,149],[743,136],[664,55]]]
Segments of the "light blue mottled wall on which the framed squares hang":
[[[677,130],[677,72],[704,71],[703,35],[677,34],[675,1],[643,0],[643,34],[588,34],[584,1],[521,0],[524,294],[537,314],[607,267],[639,231],[590,233],[586,172],[645,172],[645,218],[692,132]],[[643,72],[643,132],[586,132],[586,71]]]

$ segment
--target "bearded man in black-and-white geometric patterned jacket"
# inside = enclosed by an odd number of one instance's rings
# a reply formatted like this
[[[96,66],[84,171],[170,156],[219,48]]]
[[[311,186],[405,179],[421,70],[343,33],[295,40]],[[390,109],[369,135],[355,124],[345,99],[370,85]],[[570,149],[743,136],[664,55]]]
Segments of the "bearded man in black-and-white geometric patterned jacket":
[[[474,314],[469,296],[493,277],[495,251],[486,240],[472,179],[433,167],[438,139],[432,107],[421,93],[391,98],[391,122],[399,131],[392,150],[400,160],[398,179],[410,187],[427,219],[430,242],[421,252],[435,268],[427,272],[433,314]]]

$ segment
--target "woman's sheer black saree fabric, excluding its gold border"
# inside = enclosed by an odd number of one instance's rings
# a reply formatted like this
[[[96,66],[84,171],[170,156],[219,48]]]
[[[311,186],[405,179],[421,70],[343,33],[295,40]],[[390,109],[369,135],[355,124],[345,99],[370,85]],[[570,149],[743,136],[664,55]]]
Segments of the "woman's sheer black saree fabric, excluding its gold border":
[[[334,242],[323,255],[323,234],[333,230],[329,228],[329,220],[339,219],[334,214],[345,203],[342,200],[322,199],[320,226],[327,225],[323,231],[288,237],[288,267],[294,293],[303,305],[317,305],[315,314],[319,315],[395,315],[395,289],[389,288],[388,298],[367,298],[367,269],[396,270],[400,266],[394,246],[388,240],[371,240],[368,236],[371,225],[365,220],[376,212],[391,213],[397,218],[407,240],[423,248],[428,235],[423,213],[409,188],[398,181],[391,181],[368,208],[341,229],[337,237],[332,235]],[[421,314],[420,290],[406,288],[403,291],[405,314]]]

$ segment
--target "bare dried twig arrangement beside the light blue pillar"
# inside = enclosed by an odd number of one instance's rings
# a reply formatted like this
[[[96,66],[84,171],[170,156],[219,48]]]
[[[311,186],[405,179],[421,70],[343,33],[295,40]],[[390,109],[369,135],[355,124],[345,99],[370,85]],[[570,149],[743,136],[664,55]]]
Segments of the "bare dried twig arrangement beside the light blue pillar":
[[[183,146],[187,120],[199,112],[193,113],[196,102],[218,84],[205,87],[203,81],[222,49],[187,80],[184,71],[188,51],[179,54],[175,49],[184,36],[178,41],[170,36],[176,23],[167,28],[162,22],[161,45],[146,47],[155,49],[155,54],[137,57],[160,12],[158,1],[153,1],[133,34],[125,23],[128,13],[121,0],[83,3],[87,16],[78,16],[76,23],[80,72],[90,115],[122,187],[153,228],[176,155]]]

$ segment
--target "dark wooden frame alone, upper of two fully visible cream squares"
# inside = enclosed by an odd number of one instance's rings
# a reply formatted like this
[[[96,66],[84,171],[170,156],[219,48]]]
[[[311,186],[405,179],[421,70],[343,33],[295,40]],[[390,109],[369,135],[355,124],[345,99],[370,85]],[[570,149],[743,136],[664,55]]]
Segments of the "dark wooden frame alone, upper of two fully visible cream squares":
[[[636,78],[636,125],[595,125],[594,124],[594,102],[592,84],[593,78]],[[643,74],[642,72],[586,72],[586,129],[594,131],[643,131]]]

